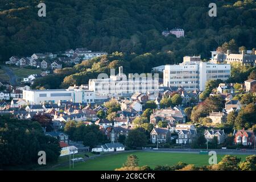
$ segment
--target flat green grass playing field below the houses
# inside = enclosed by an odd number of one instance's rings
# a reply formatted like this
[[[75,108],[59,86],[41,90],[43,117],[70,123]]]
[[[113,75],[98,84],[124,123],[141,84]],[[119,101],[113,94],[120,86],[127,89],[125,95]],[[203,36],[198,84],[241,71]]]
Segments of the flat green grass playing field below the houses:
[[[110,154],[100,156],[95,159],[87,160],[86,162],[81,162],[75,164],[75,168],[72,170],[84,170],[84,171],[113,171],[115,168],[122,167],[122,164],[126,162],[127,156],[135,154],[139,158],[139,166],[150,166],[154,168],[157,165],[173,165],[177,162],[184,162],[187,164],[195,164],[196,166],[209,165],[209,156],[207,154],[180,154],[180,153],[168,153],[168,152],[126,152],[119,154]],[[217,155],[218,162],[224,155]],[[245,160],[246,155],[236,155]],[[56,170],[70,170],[69,166],[60,167]]]

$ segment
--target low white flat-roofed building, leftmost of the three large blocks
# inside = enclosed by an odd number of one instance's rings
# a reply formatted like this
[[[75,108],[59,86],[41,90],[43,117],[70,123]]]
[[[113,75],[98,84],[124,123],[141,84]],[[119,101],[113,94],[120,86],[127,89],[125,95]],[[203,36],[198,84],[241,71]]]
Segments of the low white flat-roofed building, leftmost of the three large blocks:
[[[23,100],[29,104],[45,102],[72,101],[79,103],[94,103],[95,94],[90,90],[53,89],[53,90],[23,90]]]

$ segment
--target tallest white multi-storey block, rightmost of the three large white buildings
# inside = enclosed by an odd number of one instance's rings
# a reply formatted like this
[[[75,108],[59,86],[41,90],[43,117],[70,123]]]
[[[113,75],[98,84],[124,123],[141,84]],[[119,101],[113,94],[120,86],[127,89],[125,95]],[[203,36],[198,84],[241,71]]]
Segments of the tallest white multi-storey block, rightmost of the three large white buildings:
[[[187,62],[179,65],[166,65],[164,86],[183,86],[185,90],[205,90],[208,80],[222,81],[230,77],[230,64]]]

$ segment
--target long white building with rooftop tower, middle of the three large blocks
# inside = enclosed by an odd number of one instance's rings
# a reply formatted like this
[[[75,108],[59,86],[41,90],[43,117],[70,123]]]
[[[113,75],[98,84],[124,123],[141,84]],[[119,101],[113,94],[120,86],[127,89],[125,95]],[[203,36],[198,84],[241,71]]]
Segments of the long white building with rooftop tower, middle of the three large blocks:
[[[146,75],[137,76],[129,74],[129,77],[127,78],[123,74],[123,67],[119,67],[119,74],[116,76],[110,75],[110,78],[90,79],[89,90],[93,90],[96,97],[129,97],[134,93],[147,94],[153,92],[158,96],[158,77],[152,78],[149,76],[146,77]]]

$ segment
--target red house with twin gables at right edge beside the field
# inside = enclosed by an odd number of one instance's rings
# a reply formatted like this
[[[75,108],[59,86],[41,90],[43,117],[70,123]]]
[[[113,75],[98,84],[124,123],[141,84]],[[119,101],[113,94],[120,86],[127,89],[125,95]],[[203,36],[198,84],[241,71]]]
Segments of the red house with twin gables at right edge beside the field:
[[[234,144],[242,144],[243,146],[254,145],[255,135],[252,130],[234,131]]]

